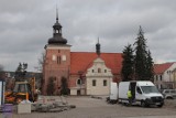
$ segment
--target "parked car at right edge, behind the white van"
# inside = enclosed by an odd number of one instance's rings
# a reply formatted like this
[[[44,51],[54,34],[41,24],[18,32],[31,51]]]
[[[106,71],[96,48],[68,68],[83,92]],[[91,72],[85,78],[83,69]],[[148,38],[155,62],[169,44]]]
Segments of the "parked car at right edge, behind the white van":
[[[176,98],[176,89],[163,89],[162,94],[166,99]]]

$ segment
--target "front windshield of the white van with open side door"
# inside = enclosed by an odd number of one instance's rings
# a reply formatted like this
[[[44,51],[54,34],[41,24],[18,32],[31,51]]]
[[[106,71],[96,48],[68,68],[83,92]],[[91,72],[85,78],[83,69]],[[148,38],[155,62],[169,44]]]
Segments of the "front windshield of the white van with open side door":
[[[158,93],[155,86],[141,86],[141,89],[144,94]]]

